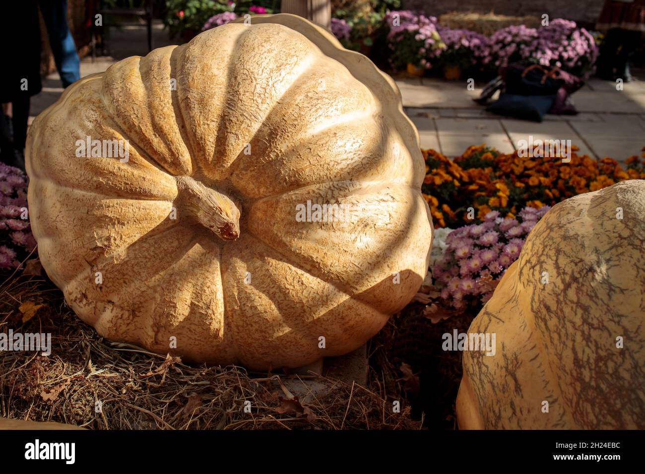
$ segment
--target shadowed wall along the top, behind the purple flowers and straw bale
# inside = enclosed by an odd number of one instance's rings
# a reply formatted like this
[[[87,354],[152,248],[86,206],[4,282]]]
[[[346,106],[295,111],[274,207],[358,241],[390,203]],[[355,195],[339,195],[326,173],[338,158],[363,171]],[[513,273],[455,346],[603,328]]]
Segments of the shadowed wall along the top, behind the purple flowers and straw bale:
[[[593,26],[602,10],[603,0],[404,0],[405,8],[421,10],[439,17],[447,12],[477,12],[553,18],[566,18]]]

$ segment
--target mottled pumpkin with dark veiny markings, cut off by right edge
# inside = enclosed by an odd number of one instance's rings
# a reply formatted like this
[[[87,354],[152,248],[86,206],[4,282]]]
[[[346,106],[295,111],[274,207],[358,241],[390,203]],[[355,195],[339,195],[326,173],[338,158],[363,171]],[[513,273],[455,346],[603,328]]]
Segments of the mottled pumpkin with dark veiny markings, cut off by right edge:
[[[469,333],[460,428],[645,428],[645,181],[581,194],[531,231]]]

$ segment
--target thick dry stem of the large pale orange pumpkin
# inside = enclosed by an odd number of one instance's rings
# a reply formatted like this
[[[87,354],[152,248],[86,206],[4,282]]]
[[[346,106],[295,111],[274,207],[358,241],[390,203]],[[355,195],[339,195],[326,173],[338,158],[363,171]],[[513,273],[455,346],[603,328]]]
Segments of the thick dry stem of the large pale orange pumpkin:
[[[239,237],[240,211],[233,201],[190,176],[176,176],[175,181],[189,215],[224,241]]]

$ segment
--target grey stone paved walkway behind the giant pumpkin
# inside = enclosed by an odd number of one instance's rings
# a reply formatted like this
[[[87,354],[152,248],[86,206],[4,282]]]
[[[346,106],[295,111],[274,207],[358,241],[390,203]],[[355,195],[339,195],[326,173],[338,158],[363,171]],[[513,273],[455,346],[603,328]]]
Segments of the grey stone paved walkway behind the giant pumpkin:
[[[174,44],[162,29],[154,25],[154,47]],[[111,30],[108,46],[112,57],[81,61],[81,75],[106,70],[123,57],[145,55],[145,30],[123,28]],[[592,157],[609,156],[624,161],[639,154],[645,146],[645,82],[624,84],[616,90],[614,83],[591,79],[573,95],[579,115],[547,115],[542,123],[506,119],[489,114],[471,99],[479,96],[484,84],[475,90],[466,81],[441,79],[397,80],[406,113],[419,130],[422,148],[433,148],[455,157],[473,144],[486,143],[501,152],[512,152],[518,141],[536,139],[570,139],[582,153]],[[38,115],[57,101],[63,89],[57,74],[43,82],[43,92],[32,98],[31,114]],[[32,117],[33,119],[33,117]]]

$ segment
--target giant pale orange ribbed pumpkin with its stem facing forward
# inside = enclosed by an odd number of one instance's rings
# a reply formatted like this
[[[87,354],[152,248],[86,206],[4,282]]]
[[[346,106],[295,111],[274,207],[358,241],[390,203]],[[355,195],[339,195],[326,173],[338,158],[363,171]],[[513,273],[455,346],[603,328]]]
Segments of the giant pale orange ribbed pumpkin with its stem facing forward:
[[[99,334],[160,353],[257,369],[340,355],[428,268],[397,87],[293,15],[84,77],[34,121],[27,160],[52,281]]]

